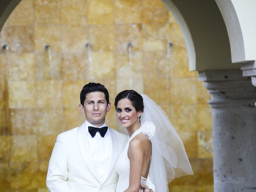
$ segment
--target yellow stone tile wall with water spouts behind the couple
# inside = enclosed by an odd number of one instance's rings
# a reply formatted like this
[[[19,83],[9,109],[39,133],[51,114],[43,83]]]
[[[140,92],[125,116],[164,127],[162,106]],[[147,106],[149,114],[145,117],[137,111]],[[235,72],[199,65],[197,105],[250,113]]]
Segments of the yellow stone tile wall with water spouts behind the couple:
[[[180,27],[160,0],[22,0],[0,42],[10,52],[0,50],[1,192],[47,192],[56,136],[84,121],[78,110],[82,86],[105,84],[113,104],[131,78],[132,89],[166,111],[190,158],[194,176],[175,179],[170,191],[213,191],[210,96],[196,72],[188,71]],[[107,123],[118,129],[114,107]]]

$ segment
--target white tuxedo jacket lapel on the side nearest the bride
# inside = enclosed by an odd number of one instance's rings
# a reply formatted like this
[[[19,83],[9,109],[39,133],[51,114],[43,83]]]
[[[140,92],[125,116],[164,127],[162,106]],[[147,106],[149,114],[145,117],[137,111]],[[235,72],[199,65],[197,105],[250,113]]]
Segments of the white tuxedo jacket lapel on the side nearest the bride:
[[[117,156],[118,156],[118,142],[117,142],[116,134],[114,133],[114,131],[111,128],[108,128],[108,133],[109,133],[110,138],[111,138],[111,147],[112,147],[111,151],[112,152],[110,154],[108,167],[106,168],[106,172],[104,174],[104,178],[102,180],[102,183],[108,178],[111,171],[113,170],[114,165],[116,164]]]

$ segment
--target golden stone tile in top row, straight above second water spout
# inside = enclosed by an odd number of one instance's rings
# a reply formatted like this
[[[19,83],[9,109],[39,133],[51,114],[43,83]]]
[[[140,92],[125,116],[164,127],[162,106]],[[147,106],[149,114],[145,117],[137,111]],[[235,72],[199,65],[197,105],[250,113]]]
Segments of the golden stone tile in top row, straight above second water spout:
[[[60,0],[34,0],[35,25],[60,24]]]

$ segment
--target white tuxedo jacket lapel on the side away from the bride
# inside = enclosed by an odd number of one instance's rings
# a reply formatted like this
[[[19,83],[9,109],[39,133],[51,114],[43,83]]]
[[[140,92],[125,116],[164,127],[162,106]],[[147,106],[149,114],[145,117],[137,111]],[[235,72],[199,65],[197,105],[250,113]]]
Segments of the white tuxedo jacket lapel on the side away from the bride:
[[[88,142],[87,142],[85,124],[82,124],[80,127],[78,127],[77,136],[78,136],[78,144],[79,144],[80,152],[82,154],[84,162],[87,165],[90,172],[92,172],[92,174],[95,176],[95,178],[97,180],[99,180],[98,172],[97,172],[94,162],[92,160],[92,155],[90,153],[90,149],[89,149]]]

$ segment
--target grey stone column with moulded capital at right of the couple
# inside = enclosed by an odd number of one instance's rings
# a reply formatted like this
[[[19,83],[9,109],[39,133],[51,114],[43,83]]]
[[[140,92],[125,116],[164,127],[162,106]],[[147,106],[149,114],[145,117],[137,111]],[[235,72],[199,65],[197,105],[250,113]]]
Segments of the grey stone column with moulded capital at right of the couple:
[[[256,88],[241,70],[198,76],[212,97],[214,192],[256,192]]]

